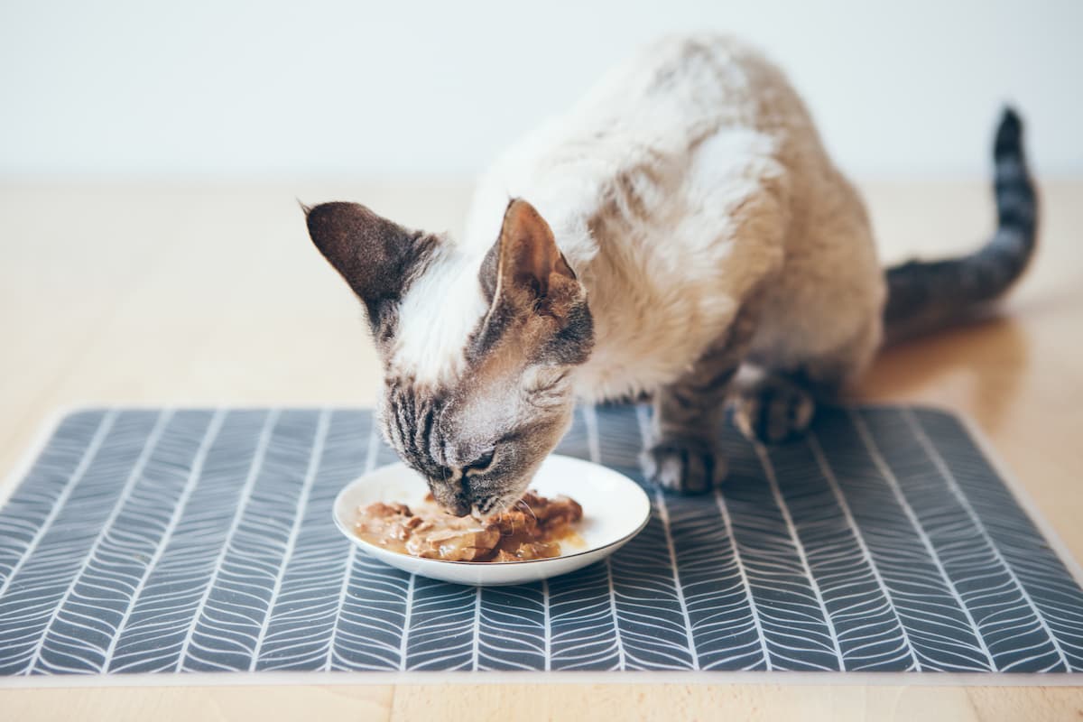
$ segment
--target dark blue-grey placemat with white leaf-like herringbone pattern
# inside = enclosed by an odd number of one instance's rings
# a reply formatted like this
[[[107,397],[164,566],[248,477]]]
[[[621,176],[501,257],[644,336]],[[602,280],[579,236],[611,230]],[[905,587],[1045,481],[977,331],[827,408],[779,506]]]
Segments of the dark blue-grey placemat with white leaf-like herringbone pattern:
[[[642,482],[648,413],[580,409],[559,451]],[[395,460],[373,426],[66,416],[0,511],[0,673],[1083,669],[1080,585],[949,413],[827,409],[771,448],[728,430],[718,494],[648,487],[650,524],[608,562],[486,589],[335,528],[339,489]]]

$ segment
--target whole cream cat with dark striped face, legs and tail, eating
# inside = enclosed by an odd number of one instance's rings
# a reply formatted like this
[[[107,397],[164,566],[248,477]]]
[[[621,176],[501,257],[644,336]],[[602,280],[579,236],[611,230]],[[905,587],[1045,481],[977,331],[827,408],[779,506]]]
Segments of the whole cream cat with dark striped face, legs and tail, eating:
[[[448,511],[518,500],[576,399],[650,396],[648,476],[702,493],[726,473],[728,398],[746,435],[785,441],[886,340],[1003,296],[1035,245],[1021,134],[1005,110],[992,239],[885,272],[782,73],[728,37],[670,37],[497,160],[458,242],[304,210],[364,304],[386,439]]]

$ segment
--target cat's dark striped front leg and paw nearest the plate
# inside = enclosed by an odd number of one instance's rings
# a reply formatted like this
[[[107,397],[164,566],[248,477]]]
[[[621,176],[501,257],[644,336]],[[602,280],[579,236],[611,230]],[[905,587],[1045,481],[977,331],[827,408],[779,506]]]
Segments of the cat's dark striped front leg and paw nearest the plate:
[[[702,494],[726,476],[726,460],[718,449],[726,398],[748,350],[758,311],[758,302],[742,306],[727,333],[681,378],[655,394],[642,457],[652,482],[684,494]]]

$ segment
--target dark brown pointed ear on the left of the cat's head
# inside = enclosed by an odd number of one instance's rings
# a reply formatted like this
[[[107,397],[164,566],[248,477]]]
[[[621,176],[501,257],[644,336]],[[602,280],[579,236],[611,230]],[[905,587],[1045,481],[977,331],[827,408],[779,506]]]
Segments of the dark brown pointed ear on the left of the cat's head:
[[[365,304],[368,320],[378,331],[436,239],[360,204],[302,205],[301,209],[312,242]]]

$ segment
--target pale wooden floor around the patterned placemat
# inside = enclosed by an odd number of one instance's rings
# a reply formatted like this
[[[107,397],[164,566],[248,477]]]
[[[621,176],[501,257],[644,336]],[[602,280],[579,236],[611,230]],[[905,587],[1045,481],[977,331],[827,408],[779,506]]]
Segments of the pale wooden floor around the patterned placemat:
[[[980,183],[863,185],[887,260],[992,227]],[[970,415],[1083,559],[1083,181],[1043,185],[1038,262],[1001,317],[885,352],[866,399]],[[460,227],[464,184],[0,185],[0,472],[88,403],[369,404],[357,304],[296,198]],[[0,489],[5,495],[8,488]],[[527,700],[524,705],[522,700]],[[0,720],[1052,720],[1069,687],[770,684],[0,690]]]

